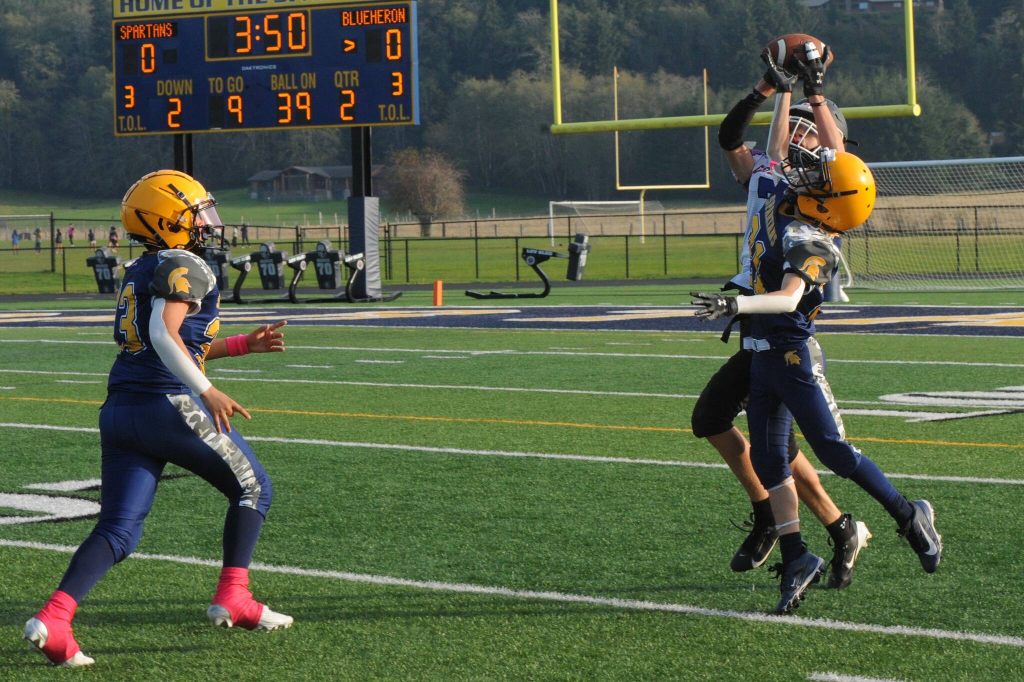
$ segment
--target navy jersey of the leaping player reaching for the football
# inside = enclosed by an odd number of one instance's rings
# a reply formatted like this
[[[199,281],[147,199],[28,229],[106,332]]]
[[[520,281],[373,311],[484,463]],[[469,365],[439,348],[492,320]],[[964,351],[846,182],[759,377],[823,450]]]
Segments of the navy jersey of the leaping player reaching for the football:
[[[769,293],[782,288],[786,273],[799,275],[807,284],[797,310],[774,315],[752,315],[752,335],[764,338],[772,348],[799,349],[814,335],[814,318],[824,301],[823,287],[839,261],[833,238],[824,231],[804,225],[779,213],[782,194],[788,184],[771,173],[751,178],[751,196],[763,198],[749,202],[751,253],[750,288],[754,293]],[[755,210],[756,209],[756,210]]]

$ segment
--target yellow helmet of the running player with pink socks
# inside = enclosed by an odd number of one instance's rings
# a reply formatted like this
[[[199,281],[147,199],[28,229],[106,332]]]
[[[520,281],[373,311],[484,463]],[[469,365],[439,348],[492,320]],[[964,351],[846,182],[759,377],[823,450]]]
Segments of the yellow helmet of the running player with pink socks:
[[[222,236],[216,199],[191,176],[157,171],[132,185],[121,200],[121,224],[135,241],[193,251]]]

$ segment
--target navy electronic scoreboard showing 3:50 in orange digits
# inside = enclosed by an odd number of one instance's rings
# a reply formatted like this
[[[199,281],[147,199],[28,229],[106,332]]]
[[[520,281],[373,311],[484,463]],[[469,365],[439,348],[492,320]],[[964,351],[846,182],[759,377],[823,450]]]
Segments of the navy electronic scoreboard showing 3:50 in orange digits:
[[[416,0],[114,0],[116,135],[420,123]]]

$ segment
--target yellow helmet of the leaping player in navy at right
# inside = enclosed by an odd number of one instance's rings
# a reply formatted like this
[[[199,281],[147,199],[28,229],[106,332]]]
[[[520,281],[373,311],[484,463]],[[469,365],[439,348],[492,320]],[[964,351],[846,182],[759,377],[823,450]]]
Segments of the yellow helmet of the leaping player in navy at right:
[[[826,149],[816,166],[796,169],[787,194],[798,220],[826,232],[846,232],[871,215],[874,176],[854,154]]]

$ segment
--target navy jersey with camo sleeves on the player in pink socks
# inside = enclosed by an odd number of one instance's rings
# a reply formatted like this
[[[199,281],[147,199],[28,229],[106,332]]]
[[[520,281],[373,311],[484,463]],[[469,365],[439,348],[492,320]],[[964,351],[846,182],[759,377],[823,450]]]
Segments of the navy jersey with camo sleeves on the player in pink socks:
[[[106,385],[110,392],[189,393],[150,343],[155,298],[189,304],[178,334],[196,364],[206,372],[206,354],[220,330],[216,278],[195,254],[180,249],[146,254],[125,270],[118,294],[114,340],[121,350],[111,368]]]

